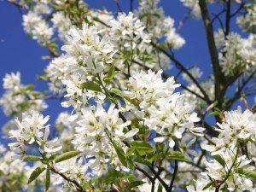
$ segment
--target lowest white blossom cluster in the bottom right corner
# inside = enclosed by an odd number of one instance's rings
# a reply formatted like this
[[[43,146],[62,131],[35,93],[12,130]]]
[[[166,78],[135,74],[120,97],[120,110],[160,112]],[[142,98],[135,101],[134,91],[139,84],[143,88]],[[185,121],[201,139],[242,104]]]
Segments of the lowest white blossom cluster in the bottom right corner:
[[[253,170],[246,155],[237,156],[236,151],[224,150],[220,158],[221,160],[207,162],[207,172],[201,172],[201,178],[196,181],[195,186],[190,185],[187,188],[189,192],[213,192],[216,188],[228,191],[255,191],[253,181],[239,172],[245,168]]]

